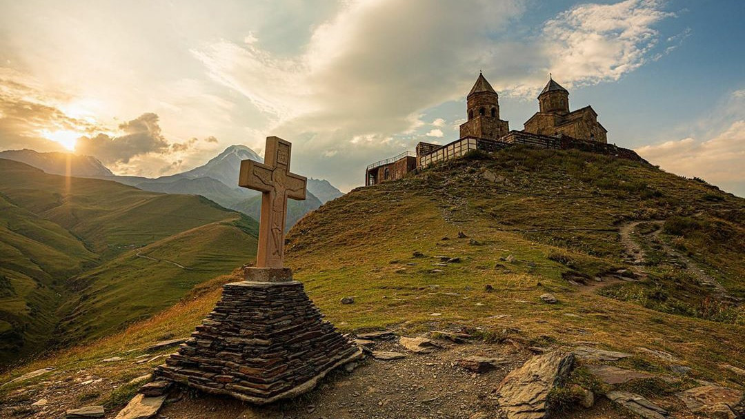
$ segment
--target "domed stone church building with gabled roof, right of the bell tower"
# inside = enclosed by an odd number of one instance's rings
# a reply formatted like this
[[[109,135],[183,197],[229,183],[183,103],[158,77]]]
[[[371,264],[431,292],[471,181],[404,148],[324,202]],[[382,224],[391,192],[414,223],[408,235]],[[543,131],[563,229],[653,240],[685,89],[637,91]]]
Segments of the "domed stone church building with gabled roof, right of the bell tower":
[[[607,132],[597,122],[592,106],[569,112],[569,92],[554,79],[538,95],[539,112],[525,121],[525,132],[538,135],[568,135],[579,140],[608,142]]]

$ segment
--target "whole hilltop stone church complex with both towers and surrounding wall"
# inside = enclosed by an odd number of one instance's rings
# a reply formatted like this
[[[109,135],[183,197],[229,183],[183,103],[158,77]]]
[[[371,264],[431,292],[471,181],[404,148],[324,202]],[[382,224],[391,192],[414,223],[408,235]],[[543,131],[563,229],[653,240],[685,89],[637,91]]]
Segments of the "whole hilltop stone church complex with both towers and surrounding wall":
[[[592,106],[570,111],[568,90],[552,77],[538,95],[538,104],[539,111],[525,122],[522,131],[510,131],[510,123],[499,117],[499,95],[480,73],[466,96],[468,119],[460,125],[457,140],[445,145],[420,142],[416,144],[416,152],[406,151],[370,164],[365,170],[365,185],[401,179],[410,172],[463,156],[471,150],[490,153],[516,144],[579,148],[641,160],[632,150],[607,144],[608,130],[597,121],[597,112]]]

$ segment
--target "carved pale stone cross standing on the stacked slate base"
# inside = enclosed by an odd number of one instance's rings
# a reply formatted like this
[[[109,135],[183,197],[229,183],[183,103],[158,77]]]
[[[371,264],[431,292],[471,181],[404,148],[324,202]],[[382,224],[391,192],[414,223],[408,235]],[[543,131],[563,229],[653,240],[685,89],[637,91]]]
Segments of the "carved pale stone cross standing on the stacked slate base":
[[[287,199],[305,199],[304,176],[290,173],[292,144],[279,137],[267,137],[264,164],[241,161],[238,186],[261,191],[259,252],[257,268],[281,268],[285,257]]]

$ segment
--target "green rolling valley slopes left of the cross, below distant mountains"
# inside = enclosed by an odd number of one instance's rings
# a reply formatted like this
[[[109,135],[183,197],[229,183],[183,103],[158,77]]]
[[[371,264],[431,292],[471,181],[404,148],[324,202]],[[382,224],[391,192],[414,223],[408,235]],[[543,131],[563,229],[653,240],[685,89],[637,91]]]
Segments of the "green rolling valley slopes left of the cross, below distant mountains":
[[[256,254],[256,222],[203,197],[4,159],[0,208],[0,362],[151,316]]]

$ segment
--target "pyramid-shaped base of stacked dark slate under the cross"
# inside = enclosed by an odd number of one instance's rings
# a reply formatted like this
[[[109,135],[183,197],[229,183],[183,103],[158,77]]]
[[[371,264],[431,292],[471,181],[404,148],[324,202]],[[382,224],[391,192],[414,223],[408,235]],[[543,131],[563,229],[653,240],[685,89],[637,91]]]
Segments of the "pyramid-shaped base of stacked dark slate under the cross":
[[[289,270],[270,273],[271,282],[224,285],[215,310],[156,376],[266,404],[309,391],[332,369],[362,356],[323,320]],[[247,276],[268,278],[257,268]]]

